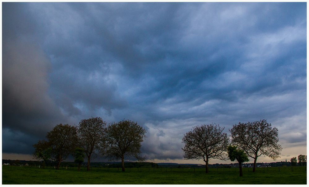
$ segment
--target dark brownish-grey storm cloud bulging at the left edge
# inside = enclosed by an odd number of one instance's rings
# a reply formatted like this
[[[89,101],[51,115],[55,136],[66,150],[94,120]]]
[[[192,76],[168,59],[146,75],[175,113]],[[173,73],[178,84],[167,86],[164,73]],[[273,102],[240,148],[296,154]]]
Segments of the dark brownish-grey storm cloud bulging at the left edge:
[[[2,127],[45,134],[63,116],[48,95],[49,61],[35,45],[4,39],[2,52]]]

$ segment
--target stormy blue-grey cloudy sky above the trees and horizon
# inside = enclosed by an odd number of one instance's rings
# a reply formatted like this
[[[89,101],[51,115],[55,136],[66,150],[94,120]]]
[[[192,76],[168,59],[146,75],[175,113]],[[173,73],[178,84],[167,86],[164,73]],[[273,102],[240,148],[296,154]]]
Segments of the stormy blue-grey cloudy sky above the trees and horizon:
[[[307,155],[306,6],[2,2],[2,159],[91,117],[137,121],[149,162],[203,164],[183,159],[186,132],[261,119],[277,161]]]

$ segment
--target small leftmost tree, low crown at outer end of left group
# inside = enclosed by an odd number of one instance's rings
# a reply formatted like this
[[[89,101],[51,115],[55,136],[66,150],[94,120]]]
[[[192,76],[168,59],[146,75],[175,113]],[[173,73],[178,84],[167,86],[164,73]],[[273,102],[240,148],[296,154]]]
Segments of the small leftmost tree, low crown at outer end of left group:
[[[46,160],[51,157],[52,148],[50,142],[39,140],[33,147],[35,148],[33,156],[38,160],[43,160],[42,168],[44,169]]]

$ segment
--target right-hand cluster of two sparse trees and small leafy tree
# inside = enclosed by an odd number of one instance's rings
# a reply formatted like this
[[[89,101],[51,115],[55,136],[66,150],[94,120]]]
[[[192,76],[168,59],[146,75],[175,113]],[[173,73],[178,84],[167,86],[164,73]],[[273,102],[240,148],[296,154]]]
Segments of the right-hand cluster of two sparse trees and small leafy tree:
[[[206,173],[209,159],[236,159],[242,176],[241,164],[248,162],[248,157],[254,159],[253,172],[259,156],[265,155],[273,160],[280,157],[282,147],[278,143],[278,129],[266,120],[235,124],[229,130],[230,138],[223,130],[219,125],[210,124],[196,126],[184,134],[184,159],[204,159]]]

